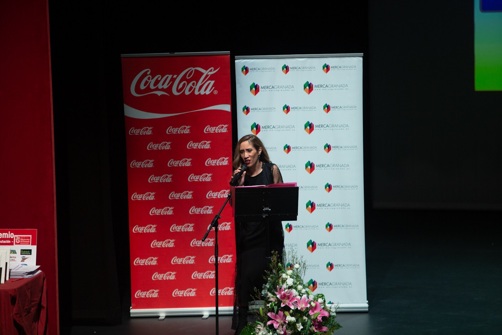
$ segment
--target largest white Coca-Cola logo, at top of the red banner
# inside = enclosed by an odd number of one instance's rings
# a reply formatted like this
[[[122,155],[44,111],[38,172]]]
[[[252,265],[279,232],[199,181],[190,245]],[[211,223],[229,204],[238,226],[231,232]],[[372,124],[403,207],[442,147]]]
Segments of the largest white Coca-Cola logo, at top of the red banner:
[[[214,80],[209,80],[209,77],[216,73],[219,67],[215,70],[210,67],[204,70],[200,67],[189,67],[183,70],[180,74],[150,74],[150,69],[140,71],[131,82],[131,94],[134,96],[143,96],[147,94],[170,95],[170,91],[174,95],[184,93],[209,94],[213,91]],[[171,79],[176,78],[174,81]]]

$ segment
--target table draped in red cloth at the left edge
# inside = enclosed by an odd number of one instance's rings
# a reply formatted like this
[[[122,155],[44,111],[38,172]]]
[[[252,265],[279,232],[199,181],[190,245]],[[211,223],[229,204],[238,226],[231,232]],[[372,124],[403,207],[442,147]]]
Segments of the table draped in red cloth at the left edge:
[[[47,333],[45,273],[0,284],[0,335]],[[14,280],[14,281],[13,281]]]

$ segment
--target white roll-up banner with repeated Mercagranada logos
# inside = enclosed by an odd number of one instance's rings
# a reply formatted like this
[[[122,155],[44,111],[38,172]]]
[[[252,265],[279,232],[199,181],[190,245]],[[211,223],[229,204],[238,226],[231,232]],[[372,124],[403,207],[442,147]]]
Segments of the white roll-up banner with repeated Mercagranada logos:
[[[235,57],[237,136],[264,142],[284,182],[299,187],[286,251],[339,311],[367,311],[362,54]]]

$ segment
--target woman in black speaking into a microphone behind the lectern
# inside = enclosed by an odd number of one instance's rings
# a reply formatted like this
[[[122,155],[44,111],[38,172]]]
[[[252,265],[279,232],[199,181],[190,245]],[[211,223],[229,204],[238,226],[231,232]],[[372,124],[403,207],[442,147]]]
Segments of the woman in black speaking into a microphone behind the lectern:
[[[281,171],[270,161],[267,149],[255,135],[242,137],[233,154],[232,181],[237,174],[235,186],[270,185],[282,183]],[[244,166],[243,166],[244,165]],[[242,169],[243,168],[243,169]],[[241,170],[244,170],[243,172]],[[283,255],[284,231],[281,221],[269,221],[270,250]],[[240,334],[247,323],[248,304],[255,293],[265,284],[263,276],[268,269],[270,254],[267,255],[265,222],[235,222],[235,290],[233,300],[232,329]]]

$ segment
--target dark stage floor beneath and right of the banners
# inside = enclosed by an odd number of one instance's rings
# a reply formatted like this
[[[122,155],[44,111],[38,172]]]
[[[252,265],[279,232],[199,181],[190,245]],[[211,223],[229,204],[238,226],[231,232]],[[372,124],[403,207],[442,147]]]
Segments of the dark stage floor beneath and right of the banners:
[[[413,217],[412,217],[413,216]],[[381,211],[366,221],[368,312],[339,312],[335,334],[502,333],[500,213]],[[215,317],[129,317],[61,334],[216,334]],[[229,315],[219,334],[233,335]]]

